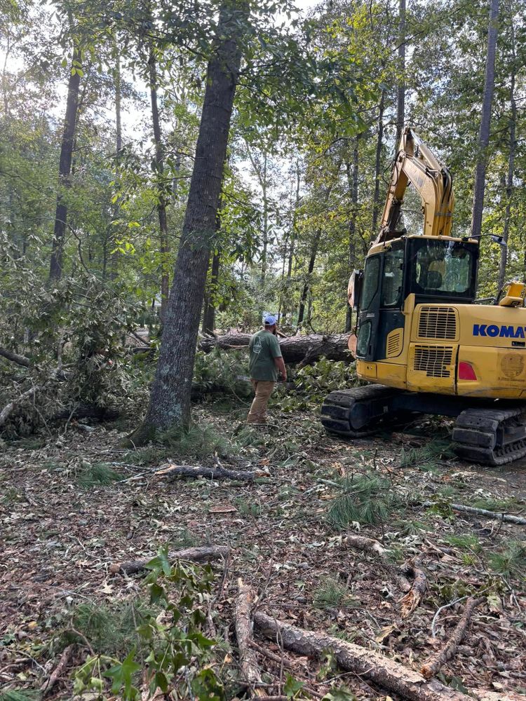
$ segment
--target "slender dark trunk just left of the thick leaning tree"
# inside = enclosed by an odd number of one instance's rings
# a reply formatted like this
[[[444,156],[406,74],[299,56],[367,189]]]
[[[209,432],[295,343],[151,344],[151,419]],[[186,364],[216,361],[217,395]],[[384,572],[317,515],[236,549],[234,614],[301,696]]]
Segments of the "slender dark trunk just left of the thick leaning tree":
[[[166,220],[166,183],[164,182],[164,153],[157,102],[157,63],[154,46],[150,44],[148,57],[151,124],[154,128],[155,158],[154,169],[157,181],[157,215],[159,216],[159,250],[161,252],[161,327],[166,320],[168,295],[170,294],[170,273],[168,271],[168,222]]]

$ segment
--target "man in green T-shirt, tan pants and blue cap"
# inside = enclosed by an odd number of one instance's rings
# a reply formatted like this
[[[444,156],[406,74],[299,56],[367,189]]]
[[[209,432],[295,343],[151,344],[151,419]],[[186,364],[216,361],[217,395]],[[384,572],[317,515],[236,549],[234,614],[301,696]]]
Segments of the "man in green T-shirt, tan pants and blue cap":
[[[248,369],[256,395],[248,412],[247,423],[267,423],[267,404],[278,381],[278,372],[283,381],[287,379],[281,348],[276,338],[276,318],[267,316],[264,324],[264,329],[252,336],[248,346]]]

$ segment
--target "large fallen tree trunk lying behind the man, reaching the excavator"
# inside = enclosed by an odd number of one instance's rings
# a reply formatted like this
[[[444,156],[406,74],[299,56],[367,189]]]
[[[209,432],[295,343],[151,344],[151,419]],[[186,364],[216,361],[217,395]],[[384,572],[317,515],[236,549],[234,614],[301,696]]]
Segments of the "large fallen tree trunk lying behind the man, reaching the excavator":
[[[225,351],[231,348],[248,348],[251,336],[252,334],[231,331],[224,336],[201,339],[198,343],[198,349],[204,353],[210,353],[214,348],[222,348]],[[308,365],[321,358],[322,355],[329,360],[344,360],[346,362],[354,360],[347,346],[349,334],[287,336],[278,340],[285,362],[302,362],[303,365]]]

